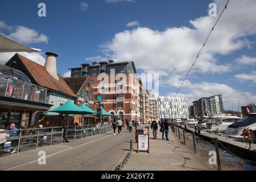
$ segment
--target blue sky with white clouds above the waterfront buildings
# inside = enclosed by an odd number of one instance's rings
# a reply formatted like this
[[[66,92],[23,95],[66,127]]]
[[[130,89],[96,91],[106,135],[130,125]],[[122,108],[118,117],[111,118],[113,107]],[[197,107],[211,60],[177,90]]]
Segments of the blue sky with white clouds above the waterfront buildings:
[[[38,16],[40,2],[46,4],[46,17]],[[226,1],[1,0],[0,32],[42,49],[38,60],[43,61],[44,52],[58,53],[57,71],[61,75],[68,68],[92,60],[135,60],[139,73],[160,73],[161,96],[173,96],[216,20],[208,16],[212,2],[217,4],[219,13]],[[230,106],[237,105],[238,99],[242,104],[256,102],[254,8],[253,0],[230,3],[180,96],[192,101],[223,94],[225,109],[232,109]],[[245,12],[251,15],[248,17]],[[127,23],[135,21],[135,26],[127,27]],[[20,39],[22,34],[18,33],[28,29],[38,35],[32,40]],[[8,56],[0,58],[2,64]],[[242,63],[244,60],[248,63]]]

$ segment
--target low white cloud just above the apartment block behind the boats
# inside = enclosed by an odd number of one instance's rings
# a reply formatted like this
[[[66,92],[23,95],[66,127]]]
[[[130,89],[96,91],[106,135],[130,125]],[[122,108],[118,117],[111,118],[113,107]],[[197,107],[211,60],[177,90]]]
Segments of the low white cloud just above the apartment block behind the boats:
[[[189,90],[188,94],[178,94],[177,96],[187,97],[190,105],[192,101],[199,100],[202,97],[210,97],[216,94],[222,94],[224,109],[238,108],[238,100],[240,106],[256,102],[256,96],[250,92],[241,92],[231,88],[225,84],[201,82],[185,86]],[[175,93],[169,93],[169,96],[174,96]]]

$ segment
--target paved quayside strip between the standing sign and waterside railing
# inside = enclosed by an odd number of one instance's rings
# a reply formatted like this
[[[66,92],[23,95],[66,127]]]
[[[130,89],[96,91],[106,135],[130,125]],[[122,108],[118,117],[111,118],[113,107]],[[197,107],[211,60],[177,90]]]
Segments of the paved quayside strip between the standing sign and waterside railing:
[[[158,139],[150,139],[150,154],[132,152],[131,158],[122,171],[210,171],[209,164],[199,159],[198,155],[180,143],[171,132],[170,141],[161,140],[162,133],[158,131]],[[152,138],[152,131],[150,134]],[[134,144],[134,149],[137,145]]]

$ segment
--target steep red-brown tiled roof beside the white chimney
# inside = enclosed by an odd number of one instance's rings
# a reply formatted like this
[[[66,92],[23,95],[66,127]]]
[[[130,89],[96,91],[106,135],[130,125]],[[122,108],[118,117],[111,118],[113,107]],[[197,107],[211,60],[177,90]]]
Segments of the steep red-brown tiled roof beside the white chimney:
[[[61,75],[58,74],[59,81],[57,81],[42,65],[37,64],[18,53],[16,53],[16,55],[19,57],[20,61],[22,61],[24,67],[27,68],[28,72],[38,85],[75,97],[75,94]]]

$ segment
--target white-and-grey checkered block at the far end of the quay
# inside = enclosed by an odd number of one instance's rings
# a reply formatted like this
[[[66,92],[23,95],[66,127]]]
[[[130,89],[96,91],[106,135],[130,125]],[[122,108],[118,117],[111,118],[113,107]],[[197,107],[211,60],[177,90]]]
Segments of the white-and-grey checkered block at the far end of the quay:
[[[159,97],[159,118],[186,119],[188,113],[188,99],[184,97]]]

